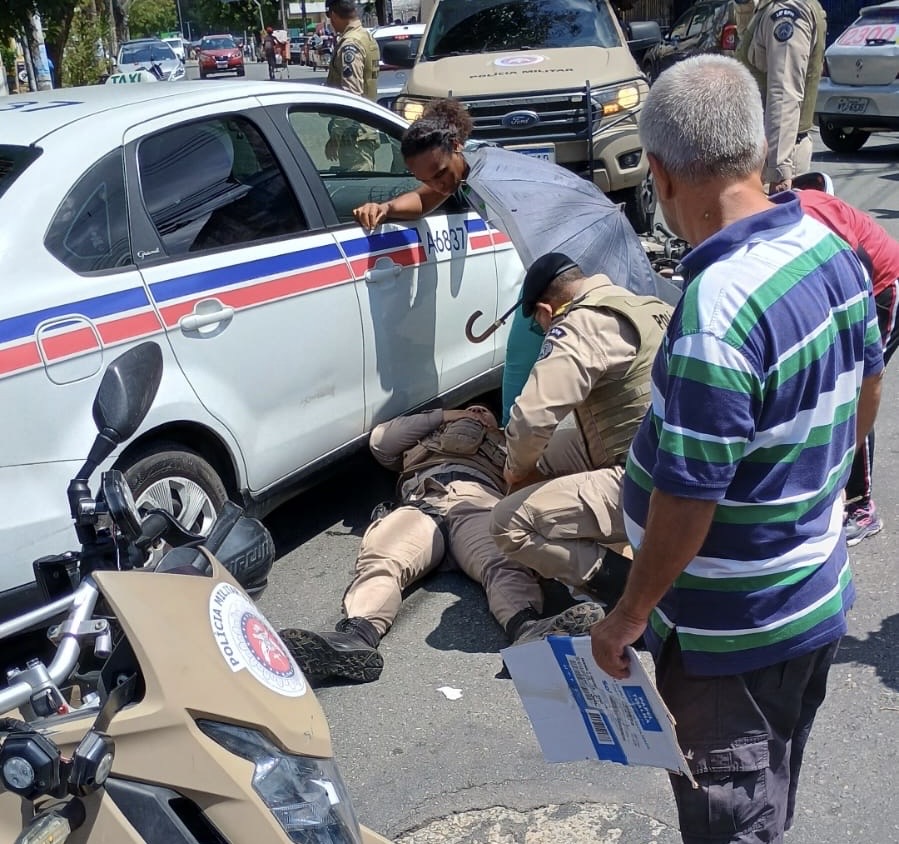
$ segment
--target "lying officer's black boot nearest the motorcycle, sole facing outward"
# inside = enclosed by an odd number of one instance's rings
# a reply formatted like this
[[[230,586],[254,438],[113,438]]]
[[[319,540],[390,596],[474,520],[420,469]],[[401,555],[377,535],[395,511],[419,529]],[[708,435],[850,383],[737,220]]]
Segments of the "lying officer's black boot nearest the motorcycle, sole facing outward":
[[[316,680],[338,677],[370,683],[381,676],[381,636],[367,618],[344,618],[334,633],[288,628],[279,635],[303,673]]]

